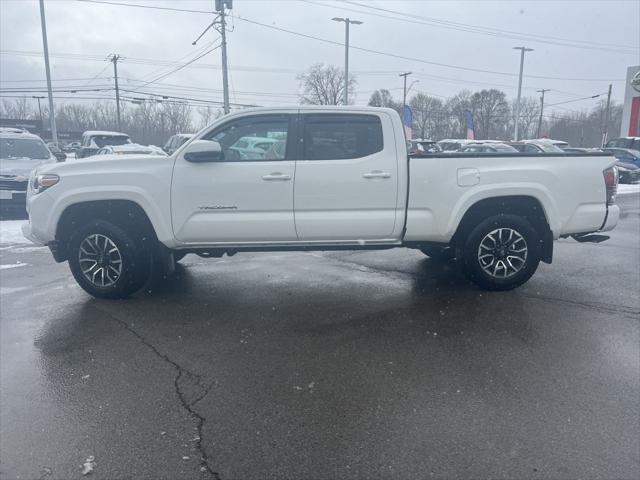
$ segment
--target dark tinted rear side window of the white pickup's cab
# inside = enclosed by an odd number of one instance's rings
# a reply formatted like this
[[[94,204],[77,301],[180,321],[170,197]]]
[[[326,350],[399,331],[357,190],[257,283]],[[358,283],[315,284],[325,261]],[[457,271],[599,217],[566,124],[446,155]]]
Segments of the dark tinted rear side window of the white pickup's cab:
[[[362,158],[383,149],[376,115],[310,114],[304,117],[304,160]]]

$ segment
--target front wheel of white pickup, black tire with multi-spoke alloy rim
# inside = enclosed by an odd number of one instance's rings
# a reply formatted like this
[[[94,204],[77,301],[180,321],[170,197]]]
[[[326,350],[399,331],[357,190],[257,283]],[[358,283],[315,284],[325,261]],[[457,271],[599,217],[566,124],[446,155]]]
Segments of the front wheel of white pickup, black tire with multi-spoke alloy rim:
[[[104,220],[89,222],[69,242],[71,273],[97,298],[125,298],[136,292],[149,279],[151,263],[152,254],[141,241]]]

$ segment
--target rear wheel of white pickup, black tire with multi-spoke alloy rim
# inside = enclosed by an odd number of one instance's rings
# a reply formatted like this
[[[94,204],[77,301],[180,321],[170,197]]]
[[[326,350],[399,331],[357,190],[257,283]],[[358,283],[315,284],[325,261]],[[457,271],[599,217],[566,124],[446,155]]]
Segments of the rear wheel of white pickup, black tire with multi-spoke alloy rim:
[[[519,287],[531,278],[539,263],[540,237],[526,218],[517,215],[483,220],[462,249],[462,272],[485,290]]]

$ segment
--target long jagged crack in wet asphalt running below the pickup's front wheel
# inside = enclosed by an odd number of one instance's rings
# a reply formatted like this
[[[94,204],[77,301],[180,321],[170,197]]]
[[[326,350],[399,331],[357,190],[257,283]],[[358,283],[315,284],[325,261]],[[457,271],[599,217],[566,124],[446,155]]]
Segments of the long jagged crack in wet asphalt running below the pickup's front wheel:
[[[103,313],[106,313],[111,319],[119,323],[126,331],[131,333],[143,345],[149,348],[158,358],[175,368],[177,373],[175,378],[173,379],[173,386],[176,391],[176,395],[178,397],[178,400],[180,401],[182,408],[184,408],[189,413],[189,415],[191,415],[191,417],[196,421],[197,425],[198,436],[194,440],[194,444],[196,450],[200,454],[200,471],[203,473],[208,473],[214,480],[219,480],[220,475],[211,466],[210,459],[207,455],[204,445],[202,444],[203,429],[207,419],[204,416],[200,415],[194,409],[195,404],[207,396],[215,382],[212,382],[210,385],[205,387],[202,383],[202,377],[200,375],[183,367],[175,360],[172,360],[167,355],[160,352],[155,345],[149,342],[142,334],[131,327],[131,325],[129,325],[127,322],[119,319],[107,310],[98,308],[95,305],[94,308],[100,310]],[[196,391],[197,393],[194,393],[194,391]]]

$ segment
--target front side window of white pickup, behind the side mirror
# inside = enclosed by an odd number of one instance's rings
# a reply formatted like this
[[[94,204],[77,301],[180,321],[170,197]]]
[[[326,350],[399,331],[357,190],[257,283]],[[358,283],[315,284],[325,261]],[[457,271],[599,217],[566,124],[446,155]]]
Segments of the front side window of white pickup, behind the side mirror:
[[[221,125],[203,140],[218,142],[229,162],[284,160],[288,133],[289,115],[260,115]]]

